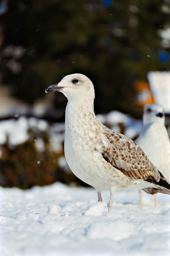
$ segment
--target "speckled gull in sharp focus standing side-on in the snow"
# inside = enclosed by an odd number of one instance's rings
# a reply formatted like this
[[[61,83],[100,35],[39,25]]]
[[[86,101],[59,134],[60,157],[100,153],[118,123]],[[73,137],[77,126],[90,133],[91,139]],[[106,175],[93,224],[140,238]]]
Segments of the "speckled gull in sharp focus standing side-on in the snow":
[[[170,194],[170,184],[150,162],[141,148],[126,136],[101,124],[94,113],[94,87],[81,74],[65,76],[49,85],[46,93],[61,91],[68,99],[65,110],[64,153],[72,172],[94,187],[98,201],[100,189],[110,190],[108,211],[116,189],[150,188]]]

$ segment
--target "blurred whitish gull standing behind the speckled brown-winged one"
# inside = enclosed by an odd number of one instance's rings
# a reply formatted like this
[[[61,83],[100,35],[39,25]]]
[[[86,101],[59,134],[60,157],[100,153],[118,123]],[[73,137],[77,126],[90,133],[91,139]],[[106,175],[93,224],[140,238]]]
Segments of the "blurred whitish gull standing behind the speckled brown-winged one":
[[[145,152],[149,160],[156,166],[164,177],[170,181],[170,140],[165,127],[164,109],[159,104],[146,104],[143,114],[143,128],[135,141]],[[152,194],[149,188],[144,191]],[[142,208],[142,194],[139,190]],[[155,194],[155,206],[157,194]]]

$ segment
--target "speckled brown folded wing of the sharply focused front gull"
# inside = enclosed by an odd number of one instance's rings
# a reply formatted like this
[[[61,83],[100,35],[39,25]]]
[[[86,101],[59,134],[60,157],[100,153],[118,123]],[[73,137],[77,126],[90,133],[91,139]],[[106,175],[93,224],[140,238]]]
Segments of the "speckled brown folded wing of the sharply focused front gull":
[[[111,130],[105,130],[104,134],[110,142],[110,147],[103,152],[107,162],[132,179],[159,181],[158,170],[134,141]]]

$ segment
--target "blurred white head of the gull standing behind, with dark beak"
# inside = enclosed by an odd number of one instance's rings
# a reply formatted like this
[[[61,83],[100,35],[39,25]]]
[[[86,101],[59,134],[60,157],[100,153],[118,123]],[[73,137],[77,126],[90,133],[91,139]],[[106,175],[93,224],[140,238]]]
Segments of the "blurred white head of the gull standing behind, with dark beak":
[[[152,123],[165,123],[165,115],[163,106],[159,104],[146,104],[143,113],[144,125]]]

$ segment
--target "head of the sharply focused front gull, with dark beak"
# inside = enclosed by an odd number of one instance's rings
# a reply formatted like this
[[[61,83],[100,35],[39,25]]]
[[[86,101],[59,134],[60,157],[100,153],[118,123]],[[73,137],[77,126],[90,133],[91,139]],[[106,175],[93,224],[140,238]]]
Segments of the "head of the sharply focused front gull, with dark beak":
[[[46,93],[62,92],[68,100],[94,99],[92,81],[82,74],[65,76],[59,83],[47,86]]]

